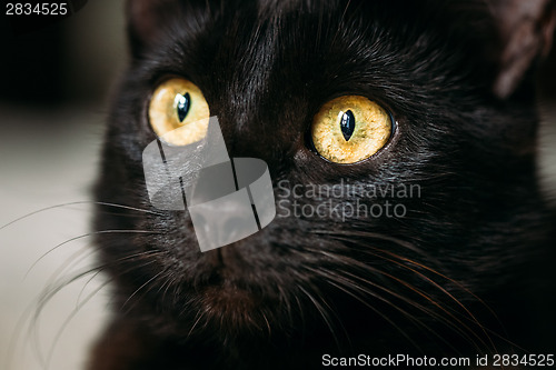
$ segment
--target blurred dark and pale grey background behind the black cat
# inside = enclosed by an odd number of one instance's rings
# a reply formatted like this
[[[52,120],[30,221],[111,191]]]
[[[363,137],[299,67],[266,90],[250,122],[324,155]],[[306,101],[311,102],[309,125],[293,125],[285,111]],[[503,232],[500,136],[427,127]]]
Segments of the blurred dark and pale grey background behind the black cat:
[[[2,19],[0,54],[0,369],[81,369],[107,320],[107,289],[93,273],[68,282],[95,264],[87,201],[127,58],[122,0],[88,1],[27,33]],[[539,173],[552,200],[555,67],[553,51],[539,79]]]

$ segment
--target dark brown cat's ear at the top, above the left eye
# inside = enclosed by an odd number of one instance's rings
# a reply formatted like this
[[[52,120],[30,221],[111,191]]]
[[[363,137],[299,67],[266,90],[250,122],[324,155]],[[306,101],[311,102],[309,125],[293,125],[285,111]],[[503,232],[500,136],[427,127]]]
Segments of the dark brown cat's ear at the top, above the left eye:
[[[127,0],[126,18],[131,53],[135,56],[157,41],[165,19],[177,9],[176,0]]]

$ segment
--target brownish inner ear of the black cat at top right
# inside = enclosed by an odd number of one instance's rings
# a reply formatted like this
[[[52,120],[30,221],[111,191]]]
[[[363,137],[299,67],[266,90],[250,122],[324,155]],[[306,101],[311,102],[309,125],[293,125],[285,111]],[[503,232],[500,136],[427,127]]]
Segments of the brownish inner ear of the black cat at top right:
[[[556,23],[554,0],[488,0],[502,47],[494,93],[504,99],[523,82],[534,63],[550,50]]]

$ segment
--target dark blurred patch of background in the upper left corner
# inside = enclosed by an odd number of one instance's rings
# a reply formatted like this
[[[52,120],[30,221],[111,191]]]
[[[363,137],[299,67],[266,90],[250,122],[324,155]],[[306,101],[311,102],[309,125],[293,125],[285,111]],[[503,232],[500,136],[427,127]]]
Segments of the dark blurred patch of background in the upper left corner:
[[[122,1],[70,6],[77,11],[66,17],[12,17],[2,2],[0,102],[59,108],[103,101],[126,56]]]

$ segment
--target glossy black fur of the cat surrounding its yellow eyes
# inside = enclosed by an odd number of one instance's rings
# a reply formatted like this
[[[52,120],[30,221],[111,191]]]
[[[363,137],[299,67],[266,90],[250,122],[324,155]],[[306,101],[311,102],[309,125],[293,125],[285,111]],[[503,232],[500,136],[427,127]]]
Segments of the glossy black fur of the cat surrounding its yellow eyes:
[[[132,61],[96,188],[98,201],[155,213],[98,208],[97,230],[148,232],[98,237],[115,319],[91,369],[308,369],[324,353],[554,350],[554,219],[537,188],[533,83],[507,99],[492,92],[502,47],[483,3],[162,3],[146,21],[160,24],[149,40],[130,27]],[[152,208],[142,173],[156,138],[149,97],[170,76],[200,87],[230,157],[264,159],[276,193],[280,180],[344,179],[418,184],[421,197],[403,200],[404,218],[277,217],[201,253],[187,211]],[[314,114],[342,94],[379,102],[397,122],[384,150],[349,166],[307,142]]]

